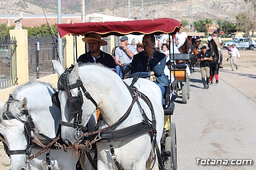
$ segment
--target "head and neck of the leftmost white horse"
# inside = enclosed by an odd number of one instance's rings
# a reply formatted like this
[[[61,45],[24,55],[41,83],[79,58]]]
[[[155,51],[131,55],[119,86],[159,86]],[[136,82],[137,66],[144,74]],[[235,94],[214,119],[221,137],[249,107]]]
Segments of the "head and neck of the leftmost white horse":
[[[10,169],[27,169],[32,142],[44,147],[40,134],[49,138],[56,137],[60,123],[60,110],[52,105],[52,85],[38,81],[30,81],[18,86],[0,113],[0,133],[4,136],[6,148],[9,150]],[[33,131],[33,132],[32,132]],[[14,154],[18,151],[18,154]],[[32,161],[31,166],[36,164]],[[37,167],[38,164],[36,165]],[[41,165],[43,166],[43,165]]]

